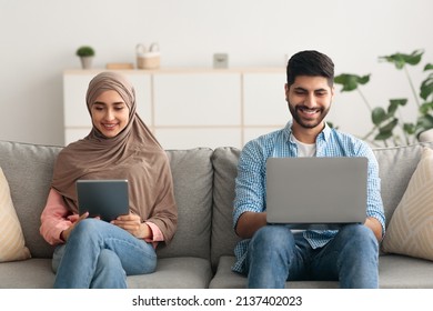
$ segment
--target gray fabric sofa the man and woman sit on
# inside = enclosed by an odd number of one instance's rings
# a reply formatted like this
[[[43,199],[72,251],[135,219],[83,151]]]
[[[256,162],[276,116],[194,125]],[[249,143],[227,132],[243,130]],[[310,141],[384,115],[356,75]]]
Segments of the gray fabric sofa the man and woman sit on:
[[[433,147],[433,143],[425,143]],[[26,244],[32,258],[0,263],[0,288],[51,288],[50,247],[39,234],[54,159],[61,147],[0,141],[0,167],[8,179]],[[375,149],[386,220],[402,198],[422,144]],[[234,178],[240,150],[168,150],[179,205],[172,243],[158,249],[154,273],[128,277],[130,288],[244,288],[231,271],[238,237],[232,230]],[[433,288],[433,262],[396,254],[380,257],[381,288]],[[338,288],[338,282],[290,282],[291,288]]]

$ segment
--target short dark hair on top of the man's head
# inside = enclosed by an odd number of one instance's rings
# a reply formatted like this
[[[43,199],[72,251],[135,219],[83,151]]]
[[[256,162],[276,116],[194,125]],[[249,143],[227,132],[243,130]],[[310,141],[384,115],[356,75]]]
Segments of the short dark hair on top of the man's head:
[[[294,83],[298,76],[324,77],[328,84],[334,84],[334,63],[332,60],[318,51],[301,51],[292,56],[288,62],[288,84]]]

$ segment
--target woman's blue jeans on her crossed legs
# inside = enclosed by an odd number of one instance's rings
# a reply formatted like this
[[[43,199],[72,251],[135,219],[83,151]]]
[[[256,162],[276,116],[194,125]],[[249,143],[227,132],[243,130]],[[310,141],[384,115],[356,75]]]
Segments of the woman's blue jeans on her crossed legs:
[[[125,289],[127,275],[157,268],[153,247],[102,220],[84,219],[54,250],[54,288]]]

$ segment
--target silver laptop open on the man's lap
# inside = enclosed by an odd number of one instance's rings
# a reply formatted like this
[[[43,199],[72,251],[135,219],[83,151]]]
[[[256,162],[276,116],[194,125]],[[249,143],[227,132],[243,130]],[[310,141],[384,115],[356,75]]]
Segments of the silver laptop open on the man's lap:
[[[266,220],[293,229],[338,229],[366,218],[367,159],[269,158]]]

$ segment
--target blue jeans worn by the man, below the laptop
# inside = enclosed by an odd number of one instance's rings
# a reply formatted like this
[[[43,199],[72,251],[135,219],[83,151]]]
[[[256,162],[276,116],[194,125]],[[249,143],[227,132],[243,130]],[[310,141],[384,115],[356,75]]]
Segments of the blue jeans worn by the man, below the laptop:
[[[249,288],[284,288],[285,281],[334,280],[340,288],[379,287],[379,243],[373,231],[348,224],[323,248],[312,249],[302,232],[261,228],[250,241]]]

